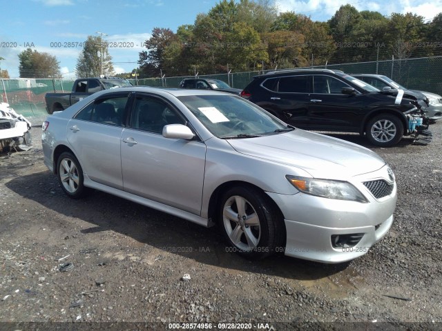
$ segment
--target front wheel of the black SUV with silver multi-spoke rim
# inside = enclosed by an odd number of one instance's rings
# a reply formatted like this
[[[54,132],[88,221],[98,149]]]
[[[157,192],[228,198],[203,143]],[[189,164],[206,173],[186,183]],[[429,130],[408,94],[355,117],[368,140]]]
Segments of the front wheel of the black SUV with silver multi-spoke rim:
[[[403,124],[398,117],[381,114],[369,120],[365,133],[370,143],[388,147],[398,143],[403,136]]]

